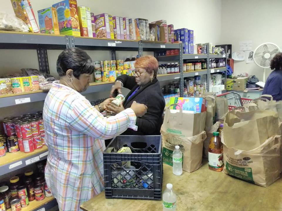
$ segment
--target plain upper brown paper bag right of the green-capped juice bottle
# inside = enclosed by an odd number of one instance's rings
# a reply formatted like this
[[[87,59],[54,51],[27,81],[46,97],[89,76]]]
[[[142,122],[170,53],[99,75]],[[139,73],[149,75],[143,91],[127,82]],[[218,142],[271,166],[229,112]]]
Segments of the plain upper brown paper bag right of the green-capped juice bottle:
[[[244,107],[241,107],[244,109]],[[229,147],[251,150],[261,146],[266,139],[279,135],[278,114],[271,110],[232,110],[224,120],[224,140]]]

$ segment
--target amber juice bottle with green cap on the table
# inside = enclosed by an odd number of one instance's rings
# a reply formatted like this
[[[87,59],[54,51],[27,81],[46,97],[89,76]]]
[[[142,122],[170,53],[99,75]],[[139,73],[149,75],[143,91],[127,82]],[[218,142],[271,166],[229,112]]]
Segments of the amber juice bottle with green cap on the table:
[[[219,132],[214,132],[209,142],[209,169],[222,171],[223,166],[223,145],[219,137]]]

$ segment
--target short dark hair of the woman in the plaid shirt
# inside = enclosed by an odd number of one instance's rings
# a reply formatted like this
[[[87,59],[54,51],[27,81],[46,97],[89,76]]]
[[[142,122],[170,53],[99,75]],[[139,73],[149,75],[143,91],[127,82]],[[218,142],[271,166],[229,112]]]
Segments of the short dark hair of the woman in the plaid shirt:
[[[57,60],[57,72],[59,76],[65,76],[68,69],[73,70],[73,76],[79,79],[81,74],[92,74],[94,66],[90,56],[80,48],[71,47],[63,50]]]

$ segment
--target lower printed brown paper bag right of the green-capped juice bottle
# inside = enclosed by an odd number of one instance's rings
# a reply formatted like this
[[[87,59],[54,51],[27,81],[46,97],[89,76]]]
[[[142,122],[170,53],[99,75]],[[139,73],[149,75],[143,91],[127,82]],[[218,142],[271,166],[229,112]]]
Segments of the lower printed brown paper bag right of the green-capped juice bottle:
[[[255,148],[246,142],[246,150],[235,147],[232,141],[225,139],[225,134],[221,141],[224,144],[224,173],[263,187],[280,177],[280,135],[271,136]]]

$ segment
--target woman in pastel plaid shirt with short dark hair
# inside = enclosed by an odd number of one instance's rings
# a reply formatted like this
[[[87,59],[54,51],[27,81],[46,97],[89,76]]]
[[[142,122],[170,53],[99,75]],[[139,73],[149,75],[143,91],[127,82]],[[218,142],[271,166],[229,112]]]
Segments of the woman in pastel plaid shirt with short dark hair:
[[[57,60],[60,81],[54,81],[44,102],[43,119],[48,158],[45,179],[60,210],[79,210],[81,203],[104,188],[104,139],[127,128],[137,130],[136,117],[146,113],[143,104],[132,104],[121,113],[104,118],[100,113],[115,98],[98,106],[80,94],[93,73],[91,58],[79,48],[64,50]],[[100,112],[99,112],[100,111]]]

